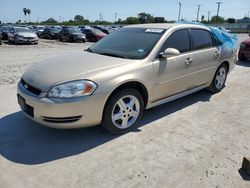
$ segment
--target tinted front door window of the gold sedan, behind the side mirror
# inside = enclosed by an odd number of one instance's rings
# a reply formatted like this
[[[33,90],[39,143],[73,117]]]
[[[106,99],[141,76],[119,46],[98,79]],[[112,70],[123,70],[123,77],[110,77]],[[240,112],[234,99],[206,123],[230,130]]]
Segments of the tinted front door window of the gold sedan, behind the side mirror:
[[[167,48],[175,48],[179,50],[180,53],[190,51],[188,31],[185,29],[172,33],[163,44],[161,52],[165,51]]]

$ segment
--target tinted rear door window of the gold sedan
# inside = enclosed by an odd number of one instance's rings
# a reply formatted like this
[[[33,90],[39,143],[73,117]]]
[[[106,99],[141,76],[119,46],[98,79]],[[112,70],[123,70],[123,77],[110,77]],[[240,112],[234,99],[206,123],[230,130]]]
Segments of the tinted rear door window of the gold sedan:
[[[206,30],[191,29],[193,39],[193,50],[209,48],[213,46],[213,40],[210,33]]]

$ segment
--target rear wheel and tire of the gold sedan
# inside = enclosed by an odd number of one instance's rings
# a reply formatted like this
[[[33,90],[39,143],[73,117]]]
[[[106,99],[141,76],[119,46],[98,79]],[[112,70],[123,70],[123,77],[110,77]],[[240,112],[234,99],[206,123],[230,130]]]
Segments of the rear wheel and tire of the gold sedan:
[[[217,69],[213,81],[209,86],[208,90],[212,93],[220,92],[224,86],[227,79],[228,68],[225,63],[221,64]]]

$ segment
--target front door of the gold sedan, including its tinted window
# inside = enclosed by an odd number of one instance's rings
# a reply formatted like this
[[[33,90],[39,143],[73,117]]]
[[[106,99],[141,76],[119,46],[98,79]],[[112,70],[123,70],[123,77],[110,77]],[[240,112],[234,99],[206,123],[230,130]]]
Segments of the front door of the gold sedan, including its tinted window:
[[[156,83],[153,88],[153,101],[161,100],[171,95],[191,88],[190,70],[194,56],[191,52],[189,32],[187,29],[175,31],[163,44],[160,52],[167,48],[175,48],[180,55],[167,59],[156,59],[153,63],[157,70]]]

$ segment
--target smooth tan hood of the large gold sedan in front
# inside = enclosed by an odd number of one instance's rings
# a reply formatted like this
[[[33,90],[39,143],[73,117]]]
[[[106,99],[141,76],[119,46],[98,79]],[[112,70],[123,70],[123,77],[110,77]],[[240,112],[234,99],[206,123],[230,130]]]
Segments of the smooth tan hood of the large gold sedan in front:
[[[30,67],[23,79],[42,91],[52,86],[79,79],[90,79],[93,74],[127,65],[133,60],[81,52],[47,59]],[[94,80],[93,80],[94,81]]]

